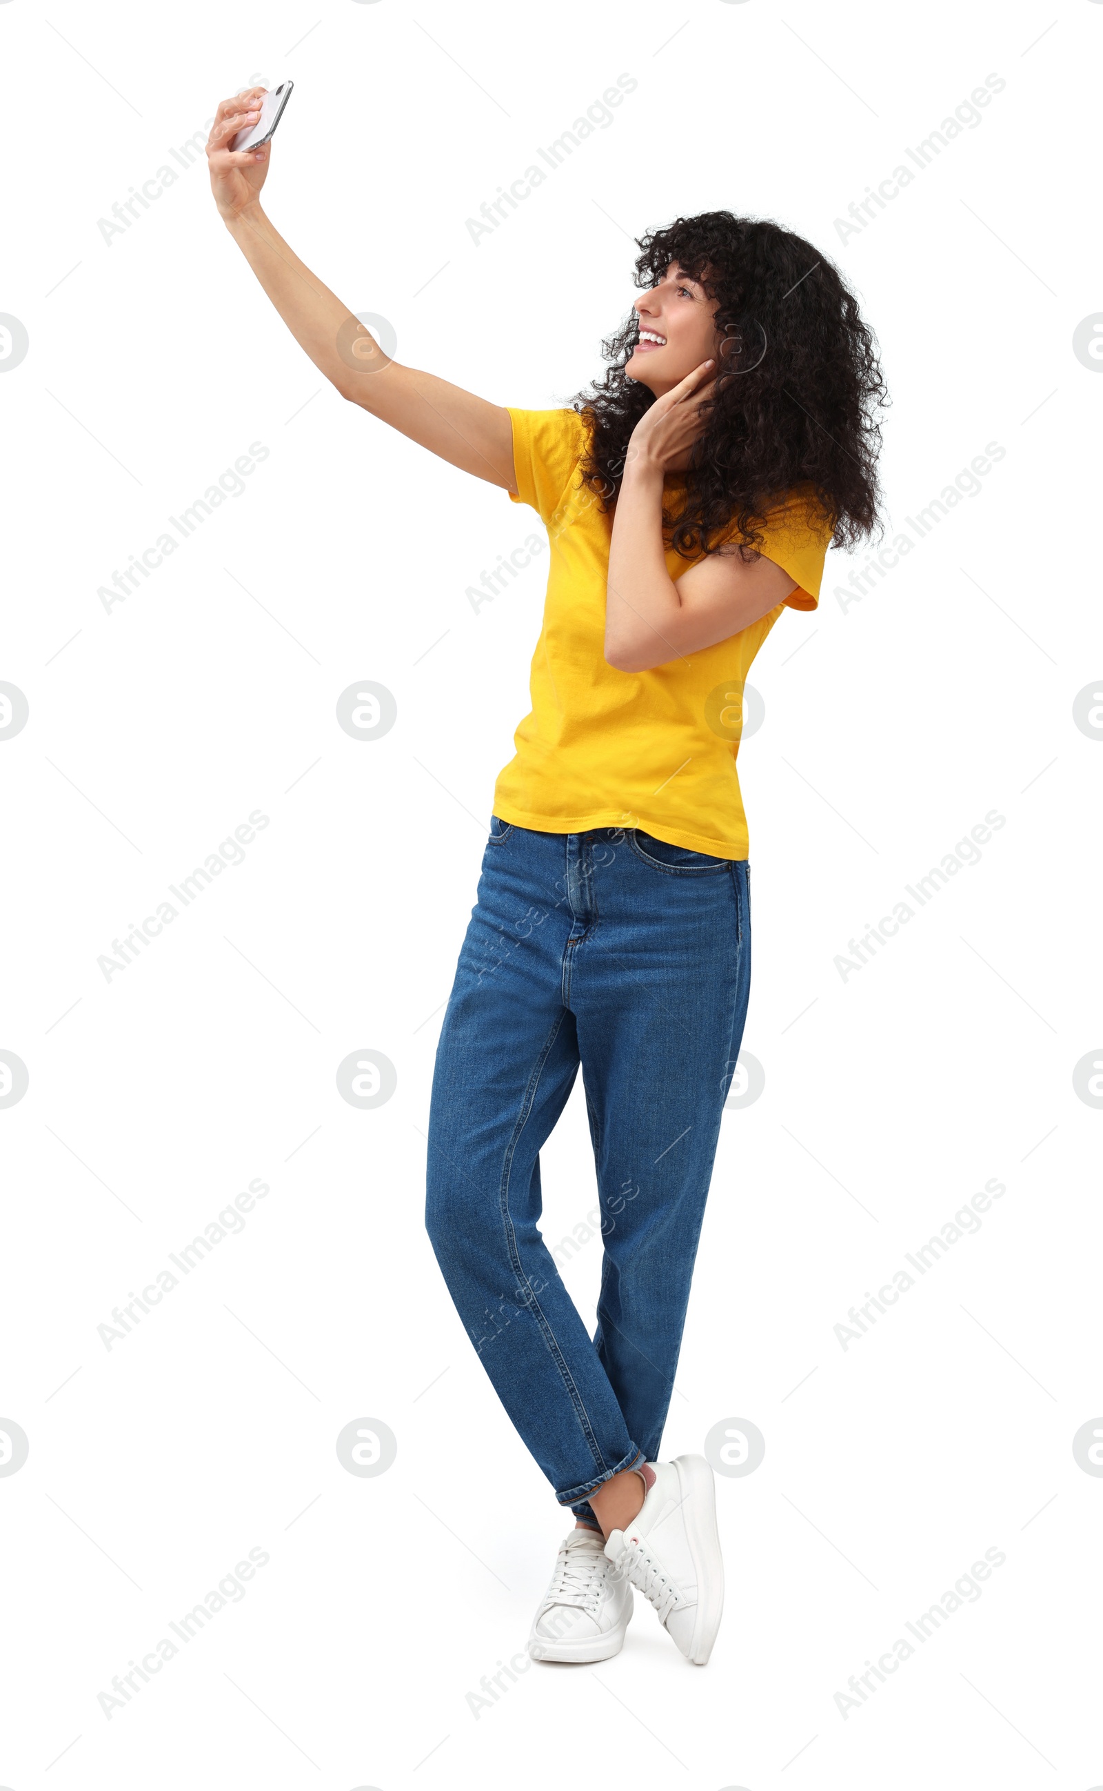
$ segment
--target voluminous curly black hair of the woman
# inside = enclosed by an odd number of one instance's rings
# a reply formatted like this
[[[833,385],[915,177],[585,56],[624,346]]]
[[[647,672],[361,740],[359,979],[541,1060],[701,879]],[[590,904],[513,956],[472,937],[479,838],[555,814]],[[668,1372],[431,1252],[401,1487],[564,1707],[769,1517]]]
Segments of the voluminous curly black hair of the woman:
[[[637,238],[636,285],[655,285],[677,261],[718,301],[722,349],[705,432],[686,489],[664,510],[686,559],[716,552],[720,534],[747,557],[766,510],[802,487],[833,523],[833,544],[854,546],[877,516],[877,410],[888,403],[876,338],[836,267],[770,219],[702,211]],[[628,437],[655,403],[625,362],[639,335],[634,310],[602,344],[602,378],[573,399],[587,423],[582,478],[609,510]]]

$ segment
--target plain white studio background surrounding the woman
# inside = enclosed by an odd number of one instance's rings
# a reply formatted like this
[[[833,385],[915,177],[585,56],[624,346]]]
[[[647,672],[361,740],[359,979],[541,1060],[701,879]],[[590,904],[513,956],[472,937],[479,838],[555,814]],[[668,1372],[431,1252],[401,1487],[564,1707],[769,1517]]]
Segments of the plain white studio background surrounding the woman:
[[[0,310],[29,333],[0,381],[0,677],[30,706],[0,745],[0,1046],[30,1078],[0,1110],[0,1415],[30,1440],[0,1478],[4,1786],[1103,1780],[1103,1481],[1071,1447],[1103,1411],[1103,1112],[1073,1087],[1103,1032],[1103,747],[1073,722],[1103,670],[1103,381],[1073,353],[1101,303],[1101,32],[1092,0],[0,4]],[[475,245],[466,219],[620,73],[614,124]],[[840,242],[988,73],[983,122]],[[467,1698],[523,1648],[564,1530],[421,1218],[546,557],[473,611],[532,514],[324,385],[201,161],[104,240],[218,99],[285,77],[265,204],[399,360],[569,401],[632,301],[630,238],[725,206],[834,258],[877,331],[886,539],[1005,448],[861,602],[829,555],[820,611],[786,613],[754,672],[766,1087],[725,1116],[664,1438],[700,1449],[729,1417],[766,1438],[718,1479],[705,1671],[637,1599],[618,1658]],[[254,441],[245,491],[107,613],[97,589]],[[378,741],[335,720],[363,679],[398,700]],[[245,861],[107,981],[97,958],[252,810]],[[981,861],[843,981],[836,955],[988,810]],[[371,1112],[335,1084],[363,1048],[398,1069]],[[111,1309],[251,1178],[245,1229],[106,1349]],[[988,1178],[979,1234],[843,1350],[847,1309]],[[578,1091],[544,1189],[555,1243],[596,1198]],[[598,1252],[568,1268],[586,1311]],[[378,1478],[335,1453],[360,1417],[398,1438]],[[251,1547],[245,1596],[107,1718],[113,1675]],[[983,1596],[843,1718],[847,1678],[988,1547]]]

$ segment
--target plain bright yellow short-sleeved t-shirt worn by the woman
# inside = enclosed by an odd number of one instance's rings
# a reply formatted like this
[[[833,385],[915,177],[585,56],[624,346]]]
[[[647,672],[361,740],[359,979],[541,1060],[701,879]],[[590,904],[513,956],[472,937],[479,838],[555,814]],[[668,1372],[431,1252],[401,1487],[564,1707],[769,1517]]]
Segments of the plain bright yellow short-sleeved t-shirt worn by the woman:
[[[510,410],[510,419],[517,484],[510,498],[530,503],[546,525],[552,564],[532,657],[532,711],[494,786],[494,813],[537,833],[641,827],[670,845],[747,858],[736,772],[743,684],[786,604],[817,607],[829,525],[790,494],[761,525],[761,552],[797,580],[784,604],[686,659],[618,672],[605,659],[612,516],[602,514],[578,473],[586,423],[575,410]],[[668,476],[666,489],[677,484]],[[671,578],[689,564],[668,550]]]

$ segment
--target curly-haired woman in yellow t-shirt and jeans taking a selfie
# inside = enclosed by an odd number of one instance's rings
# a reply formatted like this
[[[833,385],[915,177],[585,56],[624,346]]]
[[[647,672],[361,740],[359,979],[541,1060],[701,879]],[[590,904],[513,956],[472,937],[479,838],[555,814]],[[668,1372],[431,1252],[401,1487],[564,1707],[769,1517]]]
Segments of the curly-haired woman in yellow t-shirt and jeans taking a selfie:
[[[552,568],[532,713],[498,777],[430,1116],[428,1230],[482,1363],[575,1513],[530,1653],[603,1660],[632,1587],[704,1666],[723,1569],[713,1472],[659,1461],[750,987],[736,752],[747,672],[877,519],[870,331],[809,244],[727,211],[639,242],[628,322],[569,410],[509,410],[389,360],[231,152],[218,211],[342,398],[528,503]],[[602,1205],[591,1340],[539,1232],[539,1150],[582,1066]]]

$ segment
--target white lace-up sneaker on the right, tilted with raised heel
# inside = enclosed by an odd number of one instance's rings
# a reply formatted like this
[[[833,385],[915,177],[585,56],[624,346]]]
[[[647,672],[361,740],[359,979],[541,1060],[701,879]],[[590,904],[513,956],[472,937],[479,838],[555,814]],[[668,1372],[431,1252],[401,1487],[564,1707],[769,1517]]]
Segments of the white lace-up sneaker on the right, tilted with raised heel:
[[[723,1610],[723,1560],[713,1469],[704,1456],[648,1461],[655,1483],[605,1555],[636,1585],[693,1666],[704,1667]]]

